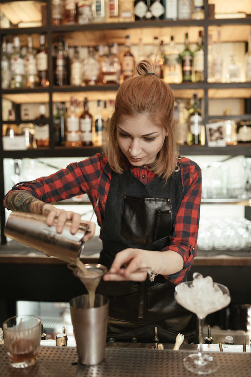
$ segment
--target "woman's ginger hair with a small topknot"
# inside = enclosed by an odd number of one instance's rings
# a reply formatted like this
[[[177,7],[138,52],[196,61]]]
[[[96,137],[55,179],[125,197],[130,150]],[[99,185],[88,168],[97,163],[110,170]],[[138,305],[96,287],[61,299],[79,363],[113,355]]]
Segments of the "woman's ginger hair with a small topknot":
[[[164,127],[168,136],[152,164],[152,170],[166,181],[175,170],[177,163],[177,143],[173,126],[174,96],[170,86],[155,75],[154,64],[141,60],[136,66],[137,75],[126,79],[119,87],[115,100],[115,110],[108,125],[104,153],[108,163],[117,173],[128,166],[125,155],[117,141],[117,124],[123,117],[146,115],[157,126]]]

